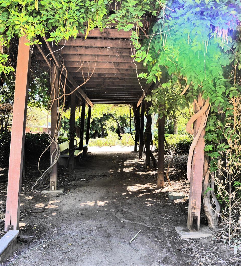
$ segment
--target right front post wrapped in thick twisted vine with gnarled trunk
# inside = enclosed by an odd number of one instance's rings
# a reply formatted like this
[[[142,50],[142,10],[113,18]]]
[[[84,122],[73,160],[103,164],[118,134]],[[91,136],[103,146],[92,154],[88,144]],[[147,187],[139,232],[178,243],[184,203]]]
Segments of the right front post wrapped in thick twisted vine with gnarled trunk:
[[[188,229],[199,230],[201,195],[203,196],[204,211],[207,216],[209,227],[218,225],[220,205],[214,194],[214,177],[208,169],[208,157],[204,155],[205,126],[210,110],[209,99],[206,101],[199,94],[198,101],[193,102],[195,114],[188,121],[186,130],[193,135],[193,142],[189,149],[187,177],[190,181],[190,196],[188,206]],[[193,127],[192,127],[193,124]],[[210,179],[210,180],[209,180]],[[203,181],[203,182],[202,182]],[[212,200],[216,210],[213,208]]]

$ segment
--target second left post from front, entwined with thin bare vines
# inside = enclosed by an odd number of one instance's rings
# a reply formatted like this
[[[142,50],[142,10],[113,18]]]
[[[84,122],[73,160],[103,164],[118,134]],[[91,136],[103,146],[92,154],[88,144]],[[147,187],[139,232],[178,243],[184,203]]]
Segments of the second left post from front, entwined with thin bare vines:
[[[59,86],[59,70],[58,68],[55,68],[56,72],[54,71],[54,67],[51,68],[51,82],[54,82],[53,88],[51,89],[50,99],[56,99],[58,98],[58,86]],[[57,128],[57,122],[58,122],[58,100],[53,101],[52,107],[51,107],[51,126],[50,126],[50,136],[51,138],[55,138],[56,134],[56,128]],[[52,160],[54,161],[56,155],[56,143],[52,142],[50,145],[50,156],[52,157]],[[51,160],[50,160],[51,163]],[[57,190],[58,187],[58,164],[56,163],[52,171],[50,173],[50,190]]]

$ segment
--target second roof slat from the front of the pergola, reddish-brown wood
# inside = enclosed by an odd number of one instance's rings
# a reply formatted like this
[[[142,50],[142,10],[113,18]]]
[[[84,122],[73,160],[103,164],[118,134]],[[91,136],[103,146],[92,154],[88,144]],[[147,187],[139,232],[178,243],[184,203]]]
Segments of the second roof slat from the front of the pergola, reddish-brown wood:
[[[129,48],[130,40],[106,40],[106,39],[84,39],[70,38],[68,41],[61,40],[58,46],[82,46],[82,47],[108,47],[108,48]]]

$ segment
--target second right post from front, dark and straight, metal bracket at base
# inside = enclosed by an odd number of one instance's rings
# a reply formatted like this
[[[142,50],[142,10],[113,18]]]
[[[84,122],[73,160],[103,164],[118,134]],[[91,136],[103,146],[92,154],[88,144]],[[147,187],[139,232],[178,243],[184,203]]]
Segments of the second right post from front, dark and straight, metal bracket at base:
[[[157,188],[164,187],[164,138],[165,138],[165,115],[158,121],[158,170]]]

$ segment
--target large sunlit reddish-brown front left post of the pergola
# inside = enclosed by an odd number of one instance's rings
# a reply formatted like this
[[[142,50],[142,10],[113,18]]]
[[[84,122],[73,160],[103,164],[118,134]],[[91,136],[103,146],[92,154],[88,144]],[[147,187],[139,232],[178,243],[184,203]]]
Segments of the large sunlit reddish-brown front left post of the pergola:
[[[19,39],[15,79],[12,133],[7,184],[5,230],[18,230],[20,192],[23,174],[26,112],[28,101],[28,76],[31,63],[30,46],[25,37]]]

